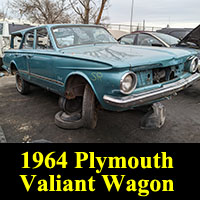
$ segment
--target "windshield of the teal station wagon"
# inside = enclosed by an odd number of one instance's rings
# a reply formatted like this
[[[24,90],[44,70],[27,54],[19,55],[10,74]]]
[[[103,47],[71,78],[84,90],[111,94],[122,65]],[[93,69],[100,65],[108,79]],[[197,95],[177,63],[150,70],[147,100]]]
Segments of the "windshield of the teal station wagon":
[[[55,27],[53,34],[59,48],[83,44],[117,43],[117,41],[101,27]]]

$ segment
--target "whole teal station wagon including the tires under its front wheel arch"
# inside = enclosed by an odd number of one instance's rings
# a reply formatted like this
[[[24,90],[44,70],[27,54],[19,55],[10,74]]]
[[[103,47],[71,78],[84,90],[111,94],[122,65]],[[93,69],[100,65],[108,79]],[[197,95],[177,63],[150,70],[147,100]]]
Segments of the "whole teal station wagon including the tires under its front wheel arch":
[[[65,24],[13,33],[3,57],[19,93],[34,84],[60,95],[55,122],[66,129],[95,128],[97,103],[125,111],[164,100],[199,80],[198,63],[195,52],[121,45],[101,26]]]

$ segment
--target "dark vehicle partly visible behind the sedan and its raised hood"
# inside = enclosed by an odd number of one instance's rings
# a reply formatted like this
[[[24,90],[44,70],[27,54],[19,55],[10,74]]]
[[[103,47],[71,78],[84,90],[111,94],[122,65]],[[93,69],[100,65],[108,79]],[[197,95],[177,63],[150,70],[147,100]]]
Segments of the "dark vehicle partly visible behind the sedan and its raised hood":
[[[192,28],[163,28],[161,30],[157,30],[156,32],[165,33],[181,40],[191,31]]]

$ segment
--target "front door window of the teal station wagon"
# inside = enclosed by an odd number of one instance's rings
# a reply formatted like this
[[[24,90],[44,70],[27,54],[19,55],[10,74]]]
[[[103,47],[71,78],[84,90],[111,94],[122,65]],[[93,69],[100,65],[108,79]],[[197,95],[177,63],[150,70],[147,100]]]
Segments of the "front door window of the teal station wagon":
[[[53,49],[46,28],[37,30],[36,49]]]

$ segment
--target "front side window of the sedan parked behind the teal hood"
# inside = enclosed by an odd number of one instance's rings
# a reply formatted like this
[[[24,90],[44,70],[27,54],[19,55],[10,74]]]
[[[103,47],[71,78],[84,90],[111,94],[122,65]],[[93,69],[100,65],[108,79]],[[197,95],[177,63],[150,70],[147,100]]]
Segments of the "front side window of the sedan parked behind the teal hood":
[[[150,35],[147,35],[147,34],[139,34],[138,35],[137,45],[163,46],[163,44],[159,40],[157,40],[156,38],[154,38]]]

